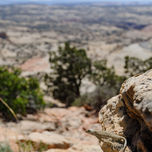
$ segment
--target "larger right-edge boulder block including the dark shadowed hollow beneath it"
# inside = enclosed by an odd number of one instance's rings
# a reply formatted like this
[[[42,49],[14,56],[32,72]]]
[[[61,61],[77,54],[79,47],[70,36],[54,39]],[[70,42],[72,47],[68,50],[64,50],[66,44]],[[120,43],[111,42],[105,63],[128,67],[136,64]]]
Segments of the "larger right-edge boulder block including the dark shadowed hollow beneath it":
[[[131,146],[137,151],[151,151],[152,70],[128,79],[121,87],[121,98],[128,116],[134,121],[132,124],[127,124],[129,130],[126,130]]]

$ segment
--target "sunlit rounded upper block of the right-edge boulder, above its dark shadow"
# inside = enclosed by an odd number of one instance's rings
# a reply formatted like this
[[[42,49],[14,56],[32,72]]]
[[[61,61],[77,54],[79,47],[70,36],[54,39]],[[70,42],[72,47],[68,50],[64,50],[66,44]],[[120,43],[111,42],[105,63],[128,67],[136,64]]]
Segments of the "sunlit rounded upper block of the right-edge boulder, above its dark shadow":
[[[152,131],[152,70],[128,79],[121,88],[128,115]]]

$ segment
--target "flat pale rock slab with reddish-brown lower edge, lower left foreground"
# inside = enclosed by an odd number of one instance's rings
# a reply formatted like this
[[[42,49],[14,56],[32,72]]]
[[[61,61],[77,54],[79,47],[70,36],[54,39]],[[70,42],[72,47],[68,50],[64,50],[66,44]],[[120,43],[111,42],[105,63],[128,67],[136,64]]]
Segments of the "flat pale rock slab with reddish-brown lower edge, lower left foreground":
[[[31,141],[34,145],[39,145],[43,143],[47,145],[48,149],[59,148],[67,149],[70,147],[70,142],[67,139],[59,134],[53,132],[42,132],[42,133],[31,133],[27,138],[21,138],[19,141]]]

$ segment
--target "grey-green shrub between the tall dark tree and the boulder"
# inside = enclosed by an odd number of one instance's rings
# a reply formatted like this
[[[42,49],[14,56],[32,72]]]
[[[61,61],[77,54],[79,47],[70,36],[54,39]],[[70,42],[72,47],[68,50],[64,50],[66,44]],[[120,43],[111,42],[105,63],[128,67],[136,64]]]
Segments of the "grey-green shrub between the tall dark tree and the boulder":
[[[118,76],[113,67],[107,67],[106,60],[101,60],[94,62],[90,79],[96,85],[96,89],[76,99],[73,105],[87,104],[99,111],[109,98],[119,93],[126,77]]]

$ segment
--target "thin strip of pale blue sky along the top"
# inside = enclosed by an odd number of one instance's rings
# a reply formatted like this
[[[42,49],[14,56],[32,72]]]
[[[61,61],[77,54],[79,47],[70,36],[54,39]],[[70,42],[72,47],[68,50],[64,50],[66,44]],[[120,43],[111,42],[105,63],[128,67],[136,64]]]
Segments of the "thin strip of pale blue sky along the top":
[[[148,3],[148,2],[152,2],[152,0],[0,0],[0,4],[13,4],[13,3],[26,3],[26,2],[35,2],[35,3],[73,3],[73,2],[122,2],[122,3],[126,3],[126,2],[144,2],[144,3]]]

